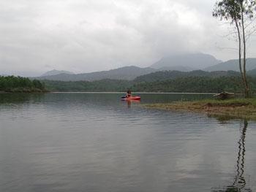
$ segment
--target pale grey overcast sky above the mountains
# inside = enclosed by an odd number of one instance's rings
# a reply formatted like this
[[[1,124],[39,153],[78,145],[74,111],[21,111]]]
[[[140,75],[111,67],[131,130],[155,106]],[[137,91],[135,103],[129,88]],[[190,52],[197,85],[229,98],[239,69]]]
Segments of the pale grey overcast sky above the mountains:
[[[150,66],[175,53],[236,58],[215,0],[1,0],[0,74]],[[248,55],[256,57],[254,38]]]

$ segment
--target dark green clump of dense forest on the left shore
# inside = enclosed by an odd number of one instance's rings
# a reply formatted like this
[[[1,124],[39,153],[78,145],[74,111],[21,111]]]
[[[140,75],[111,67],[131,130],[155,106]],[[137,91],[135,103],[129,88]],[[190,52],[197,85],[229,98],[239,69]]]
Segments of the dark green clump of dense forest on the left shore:
[[[15,93],[44,92],[45,84],[26,77],[0,76],[0,91]]]

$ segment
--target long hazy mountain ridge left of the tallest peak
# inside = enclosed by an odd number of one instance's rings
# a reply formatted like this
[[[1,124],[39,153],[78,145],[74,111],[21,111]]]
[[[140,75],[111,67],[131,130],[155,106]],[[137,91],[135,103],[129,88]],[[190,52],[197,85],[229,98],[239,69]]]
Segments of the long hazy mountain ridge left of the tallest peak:
[[[140,68],[138,66],[124,66],[118,69],[111,69],[109,71],[91,72],[83,74],[56,74],[43,77],[37,77],[39,80],[60,80],[60,81],[94,81],[94,80],[134,80],[143,74],[156,72],[157,69],[151,69],[149,67]]]

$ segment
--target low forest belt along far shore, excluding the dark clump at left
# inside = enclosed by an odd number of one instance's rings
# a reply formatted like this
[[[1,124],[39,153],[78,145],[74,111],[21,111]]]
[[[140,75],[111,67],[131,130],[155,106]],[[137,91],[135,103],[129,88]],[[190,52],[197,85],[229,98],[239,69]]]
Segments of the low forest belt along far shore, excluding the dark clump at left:
[[[93,82],[63,82],[45,80],[49,91],[141,91],[141,92],[179,92],[179,93],[219,93],[230,91],[241,93],[243,85],[238,76],[231,77],[178,77],[176,79],[136,82],[128,80],[99,80]],[[256,91],[256,77],[250,77],[252,91]]]

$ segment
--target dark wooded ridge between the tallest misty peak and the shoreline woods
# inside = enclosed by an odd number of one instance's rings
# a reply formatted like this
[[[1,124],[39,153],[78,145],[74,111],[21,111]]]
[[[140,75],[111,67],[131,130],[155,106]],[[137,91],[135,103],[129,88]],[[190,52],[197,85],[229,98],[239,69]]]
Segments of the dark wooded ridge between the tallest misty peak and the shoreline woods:
[[[150,74],[145,74],[135,78],[135,82],[155,82],[163,80],[173,80],[178,77],[231,77],[240,75],[238,72],[233,71],[220,71],[220,72],[205,72],[202,70],[195,70],[192,72],[179,72],[179,71],[161,71]]]

